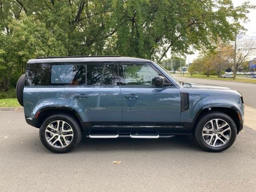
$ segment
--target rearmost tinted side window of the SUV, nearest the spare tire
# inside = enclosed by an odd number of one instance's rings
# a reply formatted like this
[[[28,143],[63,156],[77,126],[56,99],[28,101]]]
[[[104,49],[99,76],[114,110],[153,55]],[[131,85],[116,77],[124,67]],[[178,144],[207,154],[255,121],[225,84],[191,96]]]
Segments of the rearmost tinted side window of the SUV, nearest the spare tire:
[[[57,64],[30,64],[27,85],[64,85],[65,66]]]

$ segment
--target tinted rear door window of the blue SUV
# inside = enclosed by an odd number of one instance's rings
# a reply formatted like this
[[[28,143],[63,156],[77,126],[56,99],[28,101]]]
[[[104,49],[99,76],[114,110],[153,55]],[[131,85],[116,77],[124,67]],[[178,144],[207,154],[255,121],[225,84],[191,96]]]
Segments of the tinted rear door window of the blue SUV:
[[[73,66],[71,85],[118,85],[118,69],[116,64],[87,64]],[[66,75],[68,77],[68,75]]]

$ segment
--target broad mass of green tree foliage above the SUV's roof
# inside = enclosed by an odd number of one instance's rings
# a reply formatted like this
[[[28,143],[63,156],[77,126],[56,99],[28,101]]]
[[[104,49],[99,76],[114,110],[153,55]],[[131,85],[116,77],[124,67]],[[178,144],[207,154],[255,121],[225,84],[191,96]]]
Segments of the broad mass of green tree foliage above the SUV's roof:
[[[157,60],[234,39],[254,8],[231,0],[0,0],[0,70],[24,73],[29,58],[122,55]],[[8,68],[9,72],[5,73]],[[7,80],[5,81],[4,78]],[[7,84],[6,84],[7,83]]]

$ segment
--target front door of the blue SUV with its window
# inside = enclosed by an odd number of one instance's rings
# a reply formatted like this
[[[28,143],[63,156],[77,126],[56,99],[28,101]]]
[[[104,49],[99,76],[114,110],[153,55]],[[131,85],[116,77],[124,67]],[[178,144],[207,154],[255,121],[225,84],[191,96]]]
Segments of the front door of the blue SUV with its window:
[[[157,87],[159,76],[148,64],[120,64],[122,124],[126,131],[136,129],[178,132],[180,92],[175,86]],[[131,128],[129,128],[129,126]]]

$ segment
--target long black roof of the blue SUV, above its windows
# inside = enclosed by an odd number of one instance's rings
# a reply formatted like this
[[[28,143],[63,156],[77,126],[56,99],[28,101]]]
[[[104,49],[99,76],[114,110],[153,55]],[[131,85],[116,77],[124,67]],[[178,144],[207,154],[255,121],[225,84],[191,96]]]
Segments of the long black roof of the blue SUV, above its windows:
[[[39,57],[28,60],[28,63],[47,62],[152,62],[146,59],[122,56],[66,56],[66,57]]]

